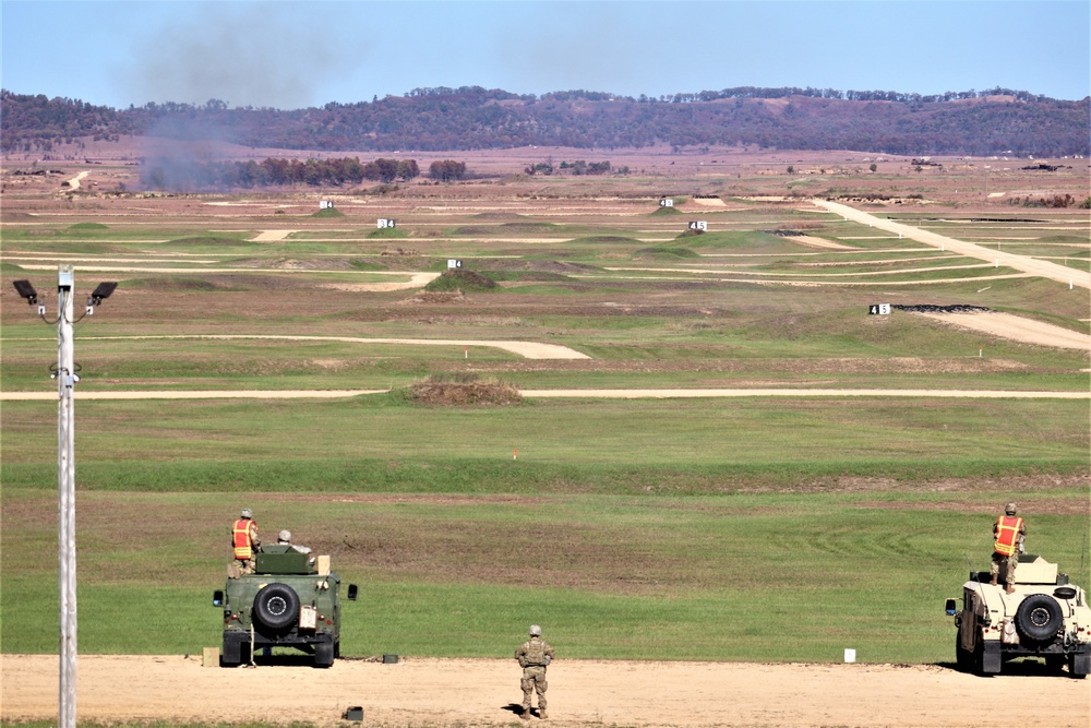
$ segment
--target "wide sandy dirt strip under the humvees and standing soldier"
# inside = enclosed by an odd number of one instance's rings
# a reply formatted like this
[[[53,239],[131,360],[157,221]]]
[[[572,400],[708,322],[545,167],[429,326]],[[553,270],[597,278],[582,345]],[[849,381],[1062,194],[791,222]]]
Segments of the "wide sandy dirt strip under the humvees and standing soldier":
[[[2,717],[57,716],[56,656],[2,656]],[[868,726],[947,728],[998,723],[1086,728],[1091,680],[1036,664],[979,678],[942,666],[764,665],[559,660],[550,668],[549,725]],[[200,656],[82,656],[82,720],[340,720],[363,707],[365,726],[520,723],[518,666],[501,659],[338,660],[205,668]],[[240,713],[240,695],[251,695]],[[991,719],[992,718],[992,719]],[[533,719],[530,725],[541,721]]]

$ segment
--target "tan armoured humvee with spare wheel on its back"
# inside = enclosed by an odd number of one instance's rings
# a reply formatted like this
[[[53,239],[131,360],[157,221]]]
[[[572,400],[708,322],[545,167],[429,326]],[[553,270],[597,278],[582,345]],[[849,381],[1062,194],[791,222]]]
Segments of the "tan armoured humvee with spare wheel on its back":
[[[1040,556],[1019,556],[1014,593],[997,585],[987,571],[971,571],[962,585],[962,608],[947,599],[945,611],[955,618],[955,659],[958,669],[996,675],[1005,660],[1038,657],[1072,677],[1091,670],[1091,607],[1082,588],[1057,573],[1057,564]]]

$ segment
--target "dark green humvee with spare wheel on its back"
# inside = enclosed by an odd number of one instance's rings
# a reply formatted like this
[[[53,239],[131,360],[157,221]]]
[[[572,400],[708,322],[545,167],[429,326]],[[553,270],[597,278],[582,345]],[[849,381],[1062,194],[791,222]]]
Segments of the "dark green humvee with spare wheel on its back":
[[[340,657],[340,577],[329,557],[312,560],[290,546],[264,546],[252,574],[228,576],[213,605],[224,609],[223,667],[252,661],[256,649],[295,647],[314,656],[314,667]],[[355,601],[357,587],[348,586]]]

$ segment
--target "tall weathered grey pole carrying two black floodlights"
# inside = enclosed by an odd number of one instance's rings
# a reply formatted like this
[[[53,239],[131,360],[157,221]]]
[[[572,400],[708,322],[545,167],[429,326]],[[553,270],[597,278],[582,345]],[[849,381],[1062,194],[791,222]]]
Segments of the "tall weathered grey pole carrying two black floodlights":
[[[72,390],[75,385],[72,321],[74,274],[71,265],[57,270],[57,470],[59,474],[60,560],[60,719],[59,728],[75,728],[75,418]]]

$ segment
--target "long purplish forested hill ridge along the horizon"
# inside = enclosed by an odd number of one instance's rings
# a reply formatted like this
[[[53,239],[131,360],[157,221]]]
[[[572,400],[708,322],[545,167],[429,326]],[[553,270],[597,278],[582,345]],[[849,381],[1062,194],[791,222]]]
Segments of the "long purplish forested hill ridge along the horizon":
[[[358,104],[278,110],[147,104],[128,109],[0,92],[5,152],[58,140],[155,135],[247,146],[337,151],[459,151],[527,145],[583,148],[758,145],[906,155],[1091,153],[1091,98],[1027,92],[920,96],[814,88],[728,88],[659,98],[599,92],[516,95],[480,87],[417,88]]]

